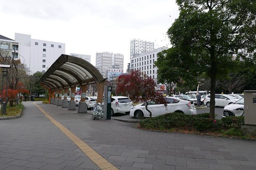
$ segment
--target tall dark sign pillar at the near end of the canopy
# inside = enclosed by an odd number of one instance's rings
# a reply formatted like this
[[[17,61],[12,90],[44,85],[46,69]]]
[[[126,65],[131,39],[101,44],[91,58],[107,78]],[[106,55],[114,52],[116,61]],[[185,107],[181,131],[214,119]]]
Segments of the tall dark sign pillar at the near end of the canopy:
[[[111,119],[111,86],[104,87],[104,119]]]

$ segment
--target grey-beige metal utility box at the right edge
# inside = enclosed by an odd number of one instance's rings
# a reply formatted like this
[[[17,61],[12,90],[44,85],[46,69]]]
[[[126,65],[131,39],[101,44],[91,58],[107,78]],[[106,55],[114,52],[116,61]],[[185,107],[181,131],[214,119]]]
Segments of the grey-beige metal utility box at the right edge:
[[[256,90],[244,91],[244,124],[256,125]]]

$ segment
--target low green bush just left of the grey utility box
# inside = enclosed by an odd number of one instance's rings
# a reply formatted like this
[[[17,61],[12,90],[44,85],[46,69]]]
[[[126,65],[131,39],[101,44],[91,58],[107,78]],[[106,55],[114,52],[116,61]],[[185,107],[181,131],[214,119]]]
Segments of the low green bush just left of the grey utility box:
[[[244,125],[244,116],[227,116],[222,117],[221,120],[224,127],[240,127]]]

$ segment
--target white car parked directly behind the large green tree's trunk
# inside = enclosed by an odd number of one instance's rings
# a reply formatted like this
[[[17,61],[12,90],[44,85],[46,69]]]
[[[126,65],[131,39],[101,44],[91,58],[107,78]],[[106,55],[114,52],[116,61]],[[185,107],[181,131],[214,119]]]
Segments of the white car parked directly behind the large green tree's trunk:
[[[236,103],[239,99],[228,94],[215,94],[215,106],[224,107],[229,104]],[[210,107],[210,95],[205,96],[204,104]]]

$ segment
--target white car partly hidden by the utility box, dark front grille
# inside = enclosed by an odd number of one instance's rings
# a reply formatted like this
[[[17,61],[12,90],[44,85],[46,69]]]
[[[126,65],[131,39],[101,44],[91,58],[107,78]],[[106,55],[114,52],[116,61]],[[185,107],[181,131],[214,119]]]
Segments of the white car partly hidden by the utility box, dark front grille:
[[[244,98],[238,100],[234,104],[224,107],[222,117],[226,116],[243,116],[244,115]]]

